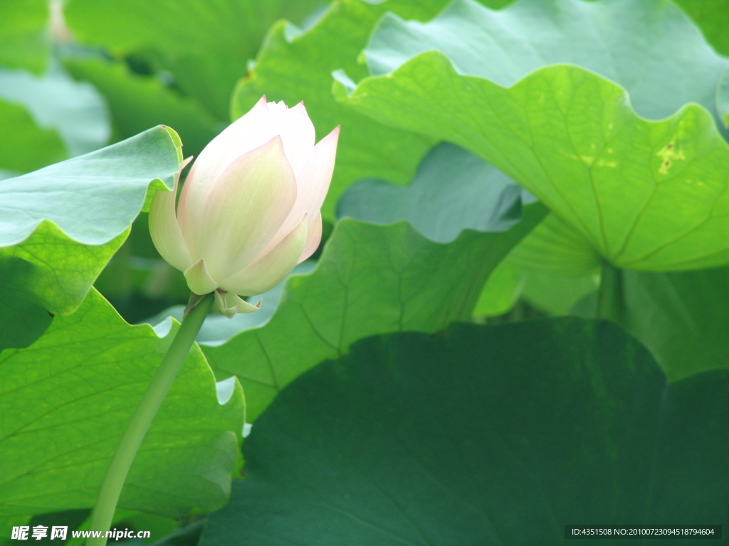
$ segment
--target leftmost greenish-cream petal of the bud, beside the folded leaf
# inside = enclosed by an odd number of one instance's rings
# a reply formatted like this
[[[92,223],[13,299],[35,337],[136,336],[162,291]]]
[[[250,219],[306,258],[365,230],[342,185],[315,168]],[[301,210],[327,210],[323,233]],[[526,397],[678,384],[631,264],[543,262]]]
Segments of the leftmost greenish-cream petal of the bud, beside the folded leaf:
[[[191,159],[192,157],[188,157],[180,165],[172,191],[157,191],[149,206],[149,234],[152,235],[152,242],[160,256],[180,271],[190,267],[192,259],[177,223],[175,201],[180,173]]]

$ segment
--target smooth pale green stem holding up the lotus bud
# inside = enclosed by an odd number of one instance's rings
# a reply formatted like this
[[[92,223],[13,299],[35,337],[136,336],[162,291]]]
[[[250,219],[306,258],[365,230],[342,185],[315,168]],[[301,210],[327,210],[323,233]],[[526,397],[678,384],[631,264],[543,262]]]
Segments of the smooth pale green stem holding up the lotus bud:
[[[134,456],[136,456],[141,441],[144,440],[144,435],[147,434],[149,424],[152,423],[162,400],[167,395],[172,381],[174,381],[177,372],[182,367],[187,353],[190,352],[192,342],[195,341],[205,317],[210,312],[213,301],[213,295],[208,294],[190,310],[190,313],[182,321],[175,339],[172,340],[167,354],[163,357],[160,367],[157,368],[155,376],[152,377],[152,381],[149,382],[147,390],[141,397],[139,405],[137,405],[121,440],[119,440],[112,462],[109,463],[109,468],[106,469],[104,483],[101,484],[101,490],[98,493],[96,506],[91,516],[91,531],[109,531],[111,528],[114,510],[117,508],[119,495],[122,492],[122,486],[124,486],[127,479]],[[106,538],[90,538],[86,541],[86,546],[105,545]]]

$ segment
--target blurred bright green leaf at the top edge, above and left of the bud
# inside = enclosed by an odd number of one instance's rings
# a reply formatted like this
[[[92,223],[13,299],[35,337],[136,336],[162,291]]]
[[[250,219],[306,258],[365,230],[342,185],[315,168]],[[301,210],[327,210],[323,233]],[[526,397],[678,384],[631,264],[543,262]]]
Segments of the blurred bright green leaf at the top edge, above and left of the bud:
[[[230,93],[246,74],[268,27],[302,23],[327,0],[69,0],[64,12],[74,36],[116,55],[151,52],[175,82],[227,119]]]

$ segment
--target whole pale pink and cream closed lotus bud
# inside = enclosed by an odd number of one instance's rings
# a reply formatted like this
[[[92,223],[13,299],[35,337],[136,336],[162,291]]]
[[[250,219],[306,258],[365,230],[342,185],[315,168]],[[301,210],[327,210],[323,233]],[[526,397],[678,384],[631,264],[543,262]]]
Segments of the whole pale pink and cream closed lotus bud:
[[[303,103],[261,98],[200,153],[177,207],[179,173],[174,191],[155,193],[149,232],[160,255],[228,317],[255,311],[241,296],[270,290],[319,246],[338,138],[339,127],[314,146]]]

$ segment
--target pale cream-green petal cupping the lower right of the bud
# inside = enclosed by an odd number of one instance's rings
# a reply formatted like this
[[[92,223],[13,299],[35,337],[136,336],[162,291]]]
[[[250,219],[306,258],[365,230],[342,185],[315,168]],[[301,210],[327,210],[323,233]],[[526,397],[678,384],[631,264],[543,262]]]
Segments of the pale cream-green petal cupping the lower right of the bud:
[[[306,218],[268,254],[262,254],[252,264],[244,267],[220,286],[241,296],[253,296],[267,292],[286,278],[297,264],[306,243]]]

